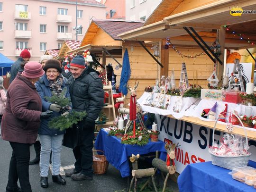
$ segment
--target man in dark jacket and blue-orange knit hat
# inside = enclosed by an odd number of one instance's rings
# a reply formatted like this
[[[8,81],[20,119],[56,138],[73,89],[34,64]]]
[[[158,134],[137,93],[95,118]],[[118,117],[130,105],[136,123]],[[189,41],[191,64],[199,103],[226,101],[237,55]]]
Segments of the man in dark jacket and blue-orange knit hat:
[[[73,109],[86,111],[87,117],[64,134],[63,145],[73,148],[76,159],[74,170],[65,175],[73,180],[91,180],[95,120],[103,107],[103,85],[94,69],[85,68],[82,55],[73,58],[70,69],[69,91]]]

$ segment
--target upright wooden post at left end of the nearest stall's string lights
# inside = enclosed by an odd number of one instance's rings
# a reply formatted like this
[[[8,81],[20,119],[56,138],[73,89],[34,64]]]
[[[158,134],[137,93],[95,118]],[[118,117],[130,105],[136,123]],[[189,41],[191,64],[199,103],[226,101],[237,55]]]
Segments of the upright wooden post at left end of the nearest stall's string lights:
[[[164,67],[161,67],[160,68],[160,76],[162,75],[165,75],[165,77],[168,76],[168,72],[169,72],[169,49],[165,49],[165,39],[162,40],[161,44],[161,49],[160,49],[160,52],[161,52],[161,64],[164,66]]]

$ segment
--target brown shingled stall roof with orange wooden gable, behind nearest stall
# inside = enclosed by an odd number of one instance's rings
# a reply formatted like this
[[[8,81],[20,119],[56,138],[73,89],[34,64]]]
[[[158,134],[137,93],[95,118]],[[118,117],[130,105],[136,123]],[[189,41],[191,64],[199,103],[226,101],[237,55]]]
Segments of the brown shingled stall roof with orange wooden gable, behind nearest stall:
[[[91,44],[95,35],[100,29],[107,33],[113,40],[121,41],[121,38],[117,36],[118,34],[137,29],[142,25],[143,23],[140,22],[128,22],[120,20],[92,20],[87,32],[83,37],[81,47]]]

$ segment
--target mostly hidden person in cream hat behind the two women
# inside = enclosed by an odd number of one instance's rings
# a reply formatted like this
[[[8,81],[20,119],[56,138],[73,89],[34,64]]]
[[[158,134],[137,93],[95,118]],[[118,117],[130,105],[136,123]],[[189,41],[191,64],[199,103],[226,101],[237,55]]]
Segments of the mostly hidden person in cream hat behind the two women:
[[[50,60],[50,59],[53,59],[52,55],[42,55],[40,57],[40,63],[41,63],[43,68],[46,65],[46,61]],[[22,67],[22,64],[20,64],[20,70],[21,70],[21,67]],[[39,141],[38,136],[37,136],[37,141],[33,145],[34,145],[34,149],[35,149],[35,152],[36,152],[36,157],[35,157],[35,159],[32,159],[31,161],[29,161],[29,165],[35,165],[35,164],[39,163],[39,161],[40,161],[41,143]],[[50,155],[50,159],[51,159],[51,155]]]

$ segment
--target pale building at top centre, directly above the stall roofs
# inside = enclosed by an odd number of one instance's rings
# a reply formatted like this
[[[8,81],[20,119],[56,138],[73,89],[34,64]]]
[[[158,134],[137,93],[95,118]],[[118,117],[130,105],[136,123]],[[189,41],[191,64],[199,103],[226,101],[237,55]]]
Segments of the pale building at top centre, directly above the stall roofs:
[[[162,0],[125,0],[128,21],[146,21]]]

